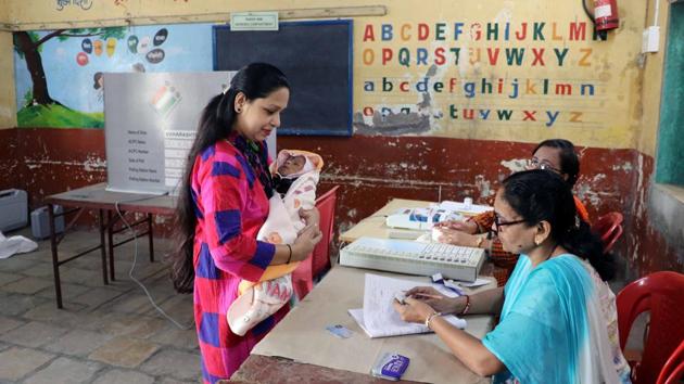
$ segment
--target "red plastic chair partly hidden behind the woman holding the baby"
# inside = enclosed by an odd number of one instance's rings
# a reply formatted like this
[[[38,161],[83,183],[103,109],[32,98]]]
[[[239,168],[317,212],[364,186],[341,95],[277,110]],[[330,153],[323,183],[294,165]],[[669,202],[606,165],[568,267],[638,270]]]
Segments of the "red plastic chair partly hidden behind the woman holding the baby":
[[[322,239],[314,247],[312,256],[302,261],[292,272],[292,284],[296,296],[302,299],[314,287],[314,280],[318,280],[327,272],[330,265],[330,245],[334,233],[334,208],[338,200],[338,189],[333,187],[330,191],[316,199],[316,208],[320,213],[320,231]]]

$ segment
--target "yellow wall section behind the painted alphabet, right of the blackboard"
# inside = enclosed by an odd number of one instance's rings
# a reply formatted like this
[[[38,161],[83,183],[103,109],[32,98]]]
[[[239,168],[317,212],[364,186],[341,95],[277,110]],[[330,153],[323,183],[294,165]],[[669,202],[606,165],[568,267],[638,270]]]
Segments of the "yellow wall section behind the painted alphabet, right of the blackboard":
[[[397,12],[392,12],[387,20],[377,20],[372,24],[376,26],[376,41],[364,42],[363,23],[356,26],[356,67],[355,89],[356,110],[364,106],[373,110],[388,106],[392,113],[408,104],[418,104],[421,95],[418,92],[407,97],[397,97],[398,92],[375,92],[368,97],[360,92],[365,78],[377,82],[382,77],[390,77],[398,81],[406,79],[416,82],[427,76],[430,71],[426,65],[411,65],[410,67],[400,65],[381,65],[378,62],[383,48],[390,48],[393,56],[398,54],[401,48],[408,48],[408,51],[417,54],[417,50],[423,48],[430,52],[439,47],[459,47],[460,57],[458,65],[442,65],[438,67],[434,78],[443,80],[446,85],[451,78],[458,78],[458,81],[479,84],[482,79],[490,82],[504,80],[504,94],[485,94],[467,98],[464,92],[431,94],[431,105],[420,111],[429,115],[442,114],[442,118],[432,119],[432,130],[428,135],[472,138],[472,139],[495,139],[539,142],[545,138],[565,137],[579,144],[603,146],[603,148],[633,148],[634,131],[630,128],[637,125],[641,116],[634,114],[634,106],[637,102],[637,91],[639,90],[636,57],[641,49],[641,30],[646,12],[642,0],[620,1],[620,12],[622,17],[621,27],[610,33],[608,41],[593,41],[591,38],[580,41],[572,41],[569,28],[573,22],[587,22],[587,17],[579,1],[489,1],[484,2],[459,2],[458,7],[453,1],[431,1],[431,7],[421,7],[426,2],[413,2],[413,7],[400,8]],[[436,10],[436,12],[435,12]],[[629,10],[629,11],[628,11]],[[395,15],[396,14],[396,15]],[[417,24],[426,23],[433,26],[435,23],[446,22],[447,36],[454,30],[448,24],[464,22],[464,39],[454,41],[446,37],[446,41],[435,41],[428,38],[427,41],[418,41],[416,37]],[[509,22],[511,28],[521,29],[522,23],[528,23],[527,38],[515,41],[473,41],[469,38],[468,26],[480,23],[482,28],[489,22]],[[545,24],[545,41],[534,40],[529,30],[535,22]],[[392,41],[382,41],[378,38],[381,24],[391,24],[395,38]],[[553,34],[553,27],[557,27],[557,34]],[[591,23],[587,23],[591,25]],[[402,34],[402,28],[407,25],[407,41],[396,38]],[[587,27],[591,36],[592,27]],[[499,35],[502,33],[499,31]],[[558,39],[556,39],[556,37]],[[380,40],[380,41],[379,41]],[[400,40],[400,41],[396,41]],[[502,65],[502,57],[506,49],[525,49],[527,56],[522,65]],[[557,62],[554,53],[555,49],[562,52],[569,49],[563,65],[554,64]],[[359,49],[362,52],[359,52]],[[366,49],[375,52],[375,64],[364,65],[364,54]],[[470,51],[472,49],[472,51]],[[501,49],[498,64],[490,65],[486,59],[486,50]],[[535,65],[529,57],[530,51],[536,49],[537,52],[545,51],[544,66]],[[477,59],[477,52],[480,59]],[[472,53],[471,53],[472,52]],[[359,55],[360,54],[360,55]],[[494,53],[496,54],[496,53]],[[588,54],[588,55],[585,55]],[[368,57],[373,54],[369,53]],[[467,60],[465,60],[467,59]],[[370,61],[370,60],[368,60]],[[360,63],[359,63],[360,62]],[[396,63],[396,61],[393,61]],[[512,87],[512,81],[518,80],[519,92],[523,92],[528,81],[532,87],[531,92],[537,94],[525,94],[512,100],[507,97]],[[541,95],[541,87],[544,79],[549,79],[549,88],[555,89],[558,84],[572,84],[574,92],[572,95]],[[464,84],[460,82],[460,84]],[[579,85],[595,86],[596,94],[591,98],[578,97]],[[479,86],[478,86],[479,87]],[[394,84],[396,88],[396,84]],[[358,105],[358,104],[362,105]],[[458,118],[449,118],[451,105],[460,110]],[[472,120],[465,120],[464,108],[474,108],[476,116],[481,112],[489,113],[489,119],[476,117]],[[514,111],[514,116],[508,121],[498,121],[492,118],[497,111]],[[535,112],[532,121],[530,118],[524,121],[524,111]],[[555,125],[547,126],[544,120],[550,124],[550,118],[546,114],[554,115],[559,112]],[[370,120],[371,118],[367,118]]]

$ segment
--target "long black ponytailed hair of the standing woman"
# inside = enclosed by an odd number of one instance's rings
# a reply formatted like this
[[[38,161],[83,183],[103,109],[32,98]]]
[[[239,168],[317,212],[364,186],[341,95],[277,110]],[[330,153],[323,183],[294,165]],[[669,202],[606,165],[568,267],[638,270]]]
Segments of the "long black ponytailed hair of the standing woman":
[[[268,97],[278,89],[290,89],[290,84],[280,69],[270,64],[252,63],[242,67],[230,80],[230,88],[215,95],[202,111],[194,142],[188,153],[186,168],[176,207],[176,231],[178,249],[170,255],[172,281],[180,293],[191,293],[194,282],[193,246],[198,222],[195,203],[191,190],[191,176],[195,158],[207,148],[226,139],[232,131],[238,93],[246,100]]]

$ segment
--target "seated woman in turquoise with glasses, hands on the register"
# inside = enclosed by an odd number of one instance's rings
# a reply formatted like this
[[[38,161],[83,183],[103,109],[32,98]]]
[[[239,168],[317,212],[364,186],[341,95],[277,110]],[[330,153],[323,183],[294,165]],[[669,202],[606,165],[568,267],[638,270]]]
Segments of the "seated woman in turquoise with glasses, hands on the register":
[[[449,298],[417,287],[394,307],[425,322],[473,372],[494,383],[630,383],[618,343],[611,259],[578,219],[572,192],[547,170],[514,174],[494,202],[494,230],[520,258],[506,286]],[[482,341],[444,313],[494,313]]]

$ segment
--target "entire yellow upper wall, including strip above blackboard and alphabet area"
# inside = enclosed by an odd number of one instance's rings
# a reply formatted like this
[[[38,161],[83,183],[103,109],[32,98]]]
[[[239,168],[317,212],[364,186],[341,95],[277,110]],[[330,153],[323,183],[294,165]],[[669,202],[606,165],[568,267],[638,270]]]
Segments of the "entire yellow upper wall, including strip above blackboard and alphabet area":
[[[39,7],[35,2],[10,1],[9,18],[17,25],[26,23],[33,26],[40,25],[42,29],[50,29],[51,23],[63,23],[67,21],[92,21],[97,26],[99,21],[124,17],[161,17],[177,16],[177,22],[182,22],[183,16],[224,13],[233,11],[259,11],[259,10],[291,10],[321,7],[340,7],[339,1],[321,0],[290,0],[290,1],[264,1],[253,0],[230,1],[223,0],[110,0],[110,1],[60,1],[42,2]],[[647,4],[643,0],[620,0],[621,26],[618,30],[611,31],[608,41],[570,41],[568,28],[573,22],[587,22],[581,8],[580,1],[530,1],[530,0],[491,0],[487,2],[477,1],[454,1],[454,0],[385,0],[377,2],[388,8],[387,16],[379,17],[355,17],[355,59],[354,59],[354,111],[360,116],[364,108],[372,107],[380,111],[382,106],[388,106],[394,111],[402,106],[413,106],[416,115],[430,117],[430,130],[422,133],[429,136],[472,138],[486,140],[515,140],[537,142],[549,137],[565,137],[580,145],[598,148],[636,148],[651,154],[655,151],[656,121],[658,112],[659,84],[662,65],[660,54],[650,55],[646,60],[645,69],[639,66],[642,55],[641,34],[647,18]],[[344,2],[345,7],[367,5],[367,1],[351,0]],[[59,10],[58,8],[62,8]],[[651,5],[653,7],[653,5]],[[662,8],[667,8],[667,2],[661,2]],[[666,12],[661,12],[661,20],[664,20]],[[485,25],[491,22],[520,25],[520,23],[544,22],[546,26],[546,40],[534,41],[525,39],[516,41],[473,41],[463,37],[460,40],[445,39],[438,41],[429,38],[425,41],[418,40],[416,31],[418,24],[425,23],[431,26],[432,36],[436,23],[445,23],[453,26],[454,23],[465,23],[464,31],[468,35],[468,25],[481,23]],[[558,26],[559,40],[552,38],[550,26],[556,23]],[[378,34],[382,24],[392,25],[394,28],[394,39],[381,41]],[[400,28],[403,25],[410,25],[411,37],[403,41],[400,36]],[[364,33],[367,25],[371,25],[376,30],[376,41],[364,41]],[[587,33],[591,34],[588,26]],[[446,35],[453,33],[452,27],[447,27]],[[664,28],[663,28],[664,35]],[[409,67],[397,64],[382,65],[380,63],[381,50],[388,48],[394,51],[406,48],[416,54],[418,49],[427,49],[434,52],[436,48],[459,47],[463,52],[468,49],[479,48],[482,55],[486,54],[486,49],[499,48],[524,48],[528,54],[532,48],[544,49],[547,53],[546,62],[553,61],[549,51],[554,49],[569,49],[563,66],[547,65],[545,67],[534,66],[530,61],[520,67],[516,66],[491,66],[480,62],[470,63],[467,54],[461,53],[460,63],[438,67],[430,73],[432,79],[448,79],[456,77],[466,81],[467,79],[504,79],[510,85],[512,79],[518,78],[523,87],[523,79],[533,78],[535,81],[549,78],[556,82],[568,79],[584,81],[596,85],[596,95],[593,98],[523,98],[518,100],[507,100],[505,95],[465,98],[460,94],[430,94],[430,105],[418,107],[425,100],[417,92],[408,93],[383,93],[364,91],[365,81],[378,81],[382,77],[391,77],[394,80],[405,79],[407,81],[419,81],[429,73],[429,65],[410,65]],[[0,46],[3,52],[11,52],[11,46]],[[376,60],[372,63],[364,63],[364,53],[367,50],[376,52]],[[582,54],[591,50],[588,60],[580,63]],[[503,54],[503,52],[501,53]],[[5,66],[8,57],[2,55],[0,66]],[[10,61],[11,62],[11,61]],[[582,65],[586,64],[588,65]],[[643,84],[646,79],[646,84]],[[539,86],[537,86],[539,87]],[[395,85],[396,89],[396,85]],[[539,88],[537,88],[539,89]],[[642,106],[643,100],[649,100],[647,106]],[[561,111],[566,120],[561,123],[560,117],[556,125],[550,128],[542,121],[522,121],[519,116],[515,124],[498,124],[491,120],[476,119],[464,121],[463,119],[449,119],[444,115],[449,113],[449,105],[457,108],[480,107],[480,108],[517,108],[537,110],[536,117],[541,119],[545,111]],[[368,110],[367,110],[368,111]],[[571,113],[582,112],[581,121],[572,123]],[[435,118],[442,114],[441,118]],[[401,116],[400,116],[401,117]],[[365,121],[372,124],[372,117],[365,117]]]

